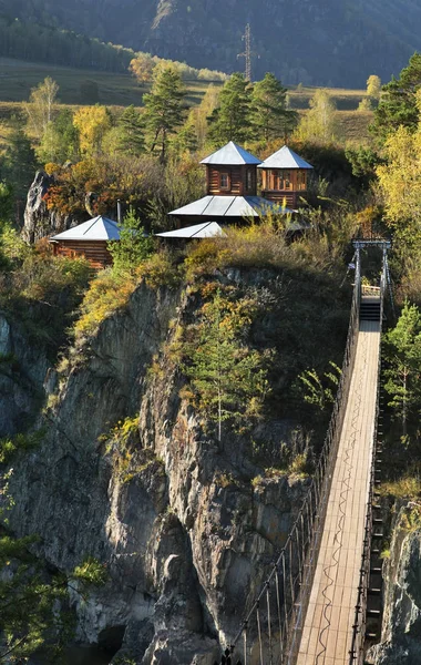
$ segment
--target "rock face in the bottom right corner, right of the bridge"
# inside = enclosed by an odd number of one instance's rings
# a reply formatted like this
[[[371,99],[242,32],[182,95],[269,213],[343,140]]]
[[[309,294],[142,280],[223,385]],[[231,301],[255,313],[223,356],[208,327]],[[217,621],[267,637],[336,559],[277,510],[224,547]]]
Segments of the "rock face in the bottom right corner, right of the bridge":
[[[373,665],[421,663],[421,528],[409,524],[419,507],[401,509],[384,564],[384,613],[380,644],[372,647]]]

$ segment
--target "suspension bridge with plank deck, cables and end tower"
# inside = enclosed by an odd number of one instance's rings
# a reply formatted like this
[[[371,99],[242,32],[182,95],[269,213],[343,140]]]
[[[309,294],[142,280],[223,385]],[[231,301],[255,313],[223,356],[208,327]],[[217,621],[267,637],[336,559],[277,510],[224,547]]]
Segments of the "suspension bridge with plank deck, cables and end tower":
[[[356,278],[340,383],[307,497],[222,663],[363,665],[380,618],[372,544],[387,241],[356,241]],[[361,284],[361,250],[382,249],[378,286]],[[376,587],[376,589],[374,589]],[[372,598],[371,598],[372,600]]]

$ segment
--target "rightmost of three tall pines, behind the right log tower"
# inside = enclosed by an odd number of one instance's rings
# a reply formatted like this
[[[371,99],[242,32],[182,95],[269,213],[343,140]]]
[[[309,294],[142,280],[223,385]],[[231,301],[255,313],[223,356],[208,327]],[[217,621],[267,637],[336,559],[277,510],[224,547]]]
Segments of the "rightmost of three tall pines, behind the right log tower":
[[[274,74],[267,73],[255,83],[251,93],[250,119],[256,137],[270,141],[292,133],[298,122],[295,111],[287,109],[287,89]]]

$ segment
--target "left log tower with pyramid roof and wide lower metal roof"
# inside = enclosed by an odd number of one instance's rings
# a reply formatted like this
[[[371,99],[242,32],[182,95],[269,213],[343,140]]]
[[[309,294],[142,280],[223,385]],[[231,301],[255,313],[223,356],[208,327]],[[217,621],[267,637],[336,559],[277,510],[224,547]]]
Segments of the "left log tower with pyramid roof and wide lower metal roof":
[[[206,166],[206,196],[172,211],[185,227],[198,222],[243,223],[260,218],[278,205],[257,196],[257,166],[260,160],[233,141],[201,162]],[[290,211],[283,211],[290,212]]]

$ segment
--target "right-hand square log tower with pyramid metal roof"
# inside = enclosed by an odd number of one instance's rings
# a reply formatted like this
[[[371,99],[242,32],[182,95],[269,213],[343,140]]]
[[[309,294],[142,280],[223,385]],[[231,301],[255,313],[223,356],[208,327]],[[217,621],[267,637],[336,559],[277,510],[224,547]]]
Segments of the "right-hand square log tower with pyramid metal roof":
[[[268,201],[296,209],[307,192],[307,174],[312,170],[302,157],[284,145],[258,165],[261,173],[261,195]]]

